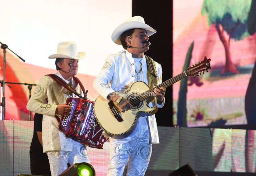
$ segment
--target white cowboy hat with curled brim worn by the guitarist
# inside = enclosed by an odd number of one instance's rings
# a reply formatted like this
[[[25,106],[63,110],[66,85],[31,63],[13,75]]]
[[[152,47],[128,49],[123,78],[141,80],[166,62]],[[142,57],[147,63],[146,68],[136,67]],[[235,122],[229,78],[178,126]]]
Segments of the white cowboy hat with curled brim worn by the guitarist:
[[[147,31],[147,36],[153,35],[156,33],[156,30],[151,28],[149,25],[145,24],[144,18],[141,16],[134,16],[129,18],[121,23],[121,25],[117,26],[117,28],[112,33],[112,41],[117,45],[122,45],[120,41],[120,36],[123,32],[134,29],[134,28],[142,28]]]

